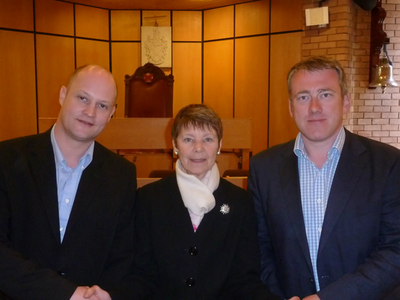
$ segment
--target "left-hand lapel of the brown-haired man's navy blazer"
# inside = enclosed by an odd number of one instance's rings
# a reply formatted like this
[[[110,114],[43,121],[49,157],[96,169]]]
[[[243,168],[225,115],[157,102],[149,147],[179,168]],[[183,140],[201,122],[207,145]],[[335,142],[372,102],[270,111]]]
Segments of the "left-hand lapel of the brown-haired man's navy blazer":
[[[292,223],[292,228],[296,233],[297,240],[306,258],[308,267],[312,270],[310,251],[308,248],[307,235],[304,225],[303,208],[301,206],[300,181],[297,165],[297,156],[293,153],[294,143],[289,143],[288,147],[282,152],[284,159],[281,161],[279,169],[281,185],[283,190],[286,207],[289,214],[288,222]]]

